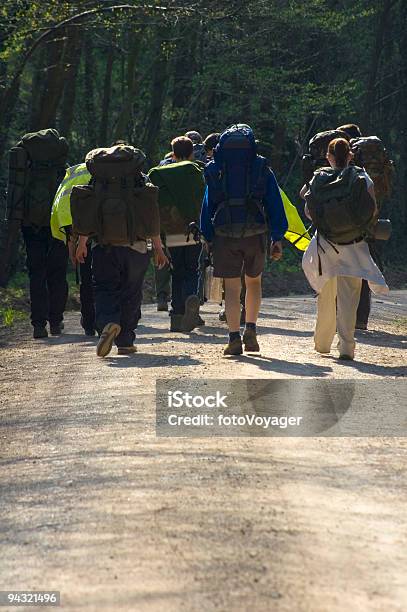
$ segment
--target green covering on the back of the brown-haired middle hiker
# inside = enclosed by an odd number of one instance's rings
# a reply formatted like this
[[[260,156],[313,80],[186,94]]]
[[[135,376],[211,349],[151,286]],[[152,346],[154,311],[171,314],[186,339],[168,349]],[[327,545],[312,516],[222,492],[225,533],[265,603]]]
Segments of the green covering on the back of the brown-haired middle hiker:
[[[148,174],[159,187],[161,230],[184,233],[188,223],[199,220],[205,180],[199,164],[182,161],[152,168]]]

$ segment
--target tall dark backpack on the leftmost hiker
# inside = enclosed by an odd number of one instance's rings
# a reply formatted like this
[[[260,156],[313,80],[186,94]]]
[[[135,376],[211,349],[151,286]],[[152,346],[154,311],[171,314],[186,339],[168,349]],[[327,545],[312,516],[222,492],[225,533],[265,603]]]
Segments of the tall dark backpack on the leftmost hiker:
[[[58,186],[65,175],[68,143],[57,130],[25,134],[9,153],[7,219],[47,227]]]

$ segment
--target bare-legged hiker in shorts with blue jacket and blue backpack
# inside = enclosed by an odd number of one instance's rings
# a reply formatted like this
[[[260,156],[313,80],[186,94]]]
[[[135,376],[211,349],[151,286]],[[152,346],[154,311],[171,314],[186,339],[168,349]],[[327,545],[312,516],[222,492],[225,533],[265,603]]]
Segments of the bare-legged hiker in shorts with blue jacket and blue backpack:
[[[257,318],[261,277],[268,242],[272,259],[282,257],[288,223],[280,190],[264,157],[257,155],[253,131],[234,125],[220,137],[214,159],[205,168],[207,188],[201,210],[201,231],[212,250],[214,276],[224,279],[229,343],[225,355],[241,355],[241,274],[246,283],[247,352],[260,350]]]

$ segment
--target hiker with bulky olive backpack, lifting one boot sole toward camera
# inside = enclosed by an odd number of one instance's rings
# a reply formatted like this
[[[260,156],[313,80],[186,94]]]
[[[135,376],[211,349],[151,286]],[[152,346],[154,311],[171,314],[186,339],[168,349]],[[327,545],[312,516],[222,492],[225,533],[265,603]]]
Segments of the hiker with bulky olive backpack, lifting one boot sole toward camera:
[[[158,190],[142,173],[144,162],[144,153],[129,145],[95,149],[86,156],[92,183],[72,190],[72,230],[79,236],[80,263],[92,238],[99,357],[108,355],[113,343],[119,355],[137,350],[134,329],[149,264],[147,239],[153,242],[156,264],[167,263],[160,240]]]

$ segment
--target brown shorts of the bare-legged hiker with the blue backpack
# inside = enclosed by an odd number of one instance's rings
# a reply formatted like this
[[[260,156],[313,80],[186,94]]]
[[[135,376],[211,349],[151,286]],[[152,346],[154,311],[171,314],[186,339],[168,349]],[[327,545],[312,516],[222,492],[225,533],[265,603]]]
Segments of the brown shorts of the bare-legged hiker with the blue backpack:
[[[244,273],[255,278],[264,270],[266,234],[247,238],[215,236],[212,254],[214,276],[239,278]]]

